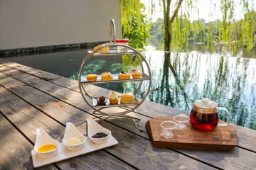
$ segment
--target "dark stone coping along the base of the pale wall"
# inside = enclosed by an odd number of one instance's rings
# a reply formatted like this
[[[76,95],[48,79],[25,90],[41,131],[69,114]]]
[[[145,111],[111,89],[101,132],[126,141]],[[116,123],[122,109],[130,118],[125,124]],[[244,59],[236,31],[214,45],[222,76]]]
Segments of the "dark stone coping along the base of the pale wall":
[[[48,45],[41,47],[26,47],[26,48],[16,48],[9,50],[0,50],[0,57],[11,57],[19,55],[36,55],[44,54],[50,52],[62,52],[70,50],[80,50],[95,47],[107,41],[98,41],[98,42],[83,42],[76,44],[66,44],[66,45]]]

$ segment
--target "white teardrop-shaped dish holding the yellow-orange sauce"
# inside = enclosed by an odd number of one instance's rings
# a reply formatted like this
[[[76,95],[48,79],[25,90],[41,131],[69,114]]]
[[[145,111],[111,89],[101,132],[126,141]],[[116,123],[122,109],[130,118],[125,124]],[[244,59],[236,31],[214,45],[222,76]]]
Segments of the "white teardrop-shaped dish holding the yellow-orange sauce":
[[[55,145],[57,148],[48,152],[38,152],[38,149],[44,145]],[[58,154],[59,147],[60,142],[53,140],[53,138],[50,137],[46,131],[44,131],[42,128],[36,129],[36,143],[34,150],[39,157],[43,159],[54,157],[56,154]]]

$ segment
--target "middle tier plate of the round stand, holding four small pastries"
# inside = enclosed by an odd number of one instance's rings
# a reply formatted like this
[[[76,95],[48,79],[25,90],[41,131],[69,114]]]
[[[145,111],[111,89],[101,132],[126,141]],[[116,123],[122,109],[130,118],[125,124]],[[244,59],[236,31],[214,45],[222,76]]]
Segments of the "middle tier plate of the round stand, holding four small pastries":
[[[102,81],[101,75],[97,75],[96,81],[87,81],[86,76],[81,76],[81,84],[102,84],[102,83],[116,83],[116,82],[124,82],[124,81],[142,81],[142,80],[149,80],[149,76],[145,73],[142,74],[142,78],[140,79],[133,79],[130,75],[130,79],[118,79],[118,74],[112,74],[113,80],[109,81]]]

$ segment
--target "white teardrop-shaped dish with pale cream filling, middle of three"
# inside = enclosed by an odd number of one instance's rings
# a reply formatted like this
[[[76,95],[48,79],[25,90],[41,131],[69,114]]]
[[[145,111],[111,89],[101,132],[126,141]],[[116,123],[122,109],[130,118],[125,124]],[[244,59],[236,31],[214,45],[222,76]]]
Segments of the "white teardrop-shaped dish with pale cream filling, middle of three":
[[[80,140],[80,144],[77,145],[68,145],[68,140],[70,140],[70,138],[73,137],[78,137],[78,139]],[[66,123],[66,128],[65,128],[65,134],[63,137],[63,145],[65,146],[66,149],[70,150],[70,151],[77,151],[82,149],[82,147],[85,146],[85,141],[86,141],[86,137],[85,135],[82,135],[82,133],[75,128],[75,125],[73,125],[73,123]]]

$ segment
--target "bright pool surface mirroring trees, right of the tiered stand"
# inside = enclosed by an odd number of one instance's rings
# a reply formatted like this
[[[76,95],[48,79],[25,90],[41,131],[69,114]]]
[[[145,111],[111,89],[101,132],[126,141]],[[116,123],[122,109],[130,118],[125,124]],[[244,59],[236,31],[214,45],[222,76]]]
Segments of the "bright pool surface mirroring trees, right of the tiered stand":
[[[152,72],[149,101],[191,111],[193,101],[207,97],[228,108],[232,123],[256,129],[256,60],[159,51],[144,55]],[[225,114],[220,118],[226,120]]]

